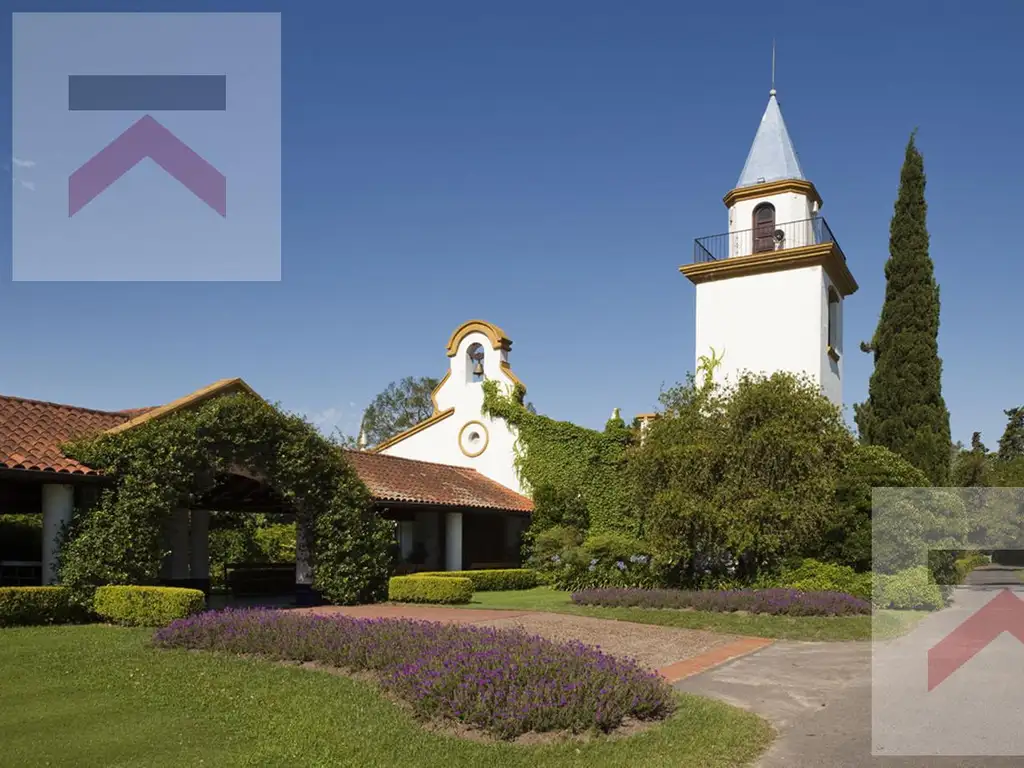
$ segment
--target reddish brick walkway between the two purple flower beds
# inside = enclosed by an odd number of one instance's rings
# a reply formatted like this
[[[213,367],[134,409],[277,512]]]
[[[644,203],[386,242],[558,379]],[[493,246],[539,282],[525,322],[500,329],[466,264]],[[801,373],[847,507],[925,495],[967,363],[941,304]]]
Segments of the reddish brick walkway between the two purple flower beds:
[[[355,605],[301,608],[322,614],[362,618],[413,618],[478,627],[516,628],[560,642],[578,640],[605,653],[633,658],[670,682],[763,648],[770,640],[699,630],[616,622],[566,613],[450,608],[434,605]]]

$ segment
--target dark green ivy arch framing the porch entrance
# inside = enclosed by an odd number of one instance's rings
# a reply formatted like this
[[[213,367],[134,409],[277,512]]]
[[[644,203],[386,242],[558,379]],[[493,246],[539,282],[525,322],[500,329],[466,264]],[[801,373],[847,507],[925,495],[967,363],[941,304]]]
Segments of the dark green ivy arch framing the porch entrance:
[[[105,584],[154,584],[172,511],[195,506],[232,467],[263,478],[294,511],[326,599],[386,594],[393,523],[374,513],[337,445],[258,397],[223,395],[63,451],[110,481],[94,506],[76,510],[60,548],[61,581],[82,597]]]

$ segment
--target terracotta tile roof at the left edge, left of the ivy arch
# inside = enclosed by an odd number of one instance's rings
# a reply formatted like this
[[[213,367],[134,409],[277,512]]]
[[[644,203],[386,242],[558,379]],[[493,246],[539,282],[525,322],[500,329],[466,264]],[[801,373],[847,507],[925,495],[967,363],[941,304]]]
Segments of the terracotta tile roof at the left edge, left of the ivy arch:
[[[61,443],[110,429],[133,415],[0,395],[0,468],[94,475],[95,470],[61,454]]]

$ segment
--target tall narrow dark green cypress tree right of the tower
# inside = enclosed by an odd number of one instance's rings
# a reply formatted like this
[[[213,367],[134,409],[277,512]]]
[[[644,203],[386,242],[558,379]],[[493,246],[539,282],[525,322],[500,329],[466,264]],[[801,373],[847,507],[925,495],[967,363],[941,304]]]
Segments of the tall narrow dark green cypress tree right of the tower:
[[[874,372],[867,401],[854,406],[862,441],[884,445],[936,485],[949,479],[949,411],[942,398],[939,287],[928,254],[925,161],[906,144],[899,194],[889,225],[886,299],[870,344]]]

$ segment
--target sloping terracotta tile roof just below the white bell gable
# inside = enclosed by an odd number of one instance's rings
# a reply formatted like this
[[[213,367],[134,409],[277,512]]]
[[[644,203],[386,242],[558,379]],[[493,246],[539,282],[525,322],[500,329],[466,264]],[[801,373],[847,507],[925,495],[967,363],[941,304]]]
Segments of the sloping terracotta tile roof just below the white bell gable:
[[[346,452],[378,501],[531,512],[534,503],[475,469],[396,456]]]

